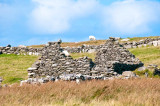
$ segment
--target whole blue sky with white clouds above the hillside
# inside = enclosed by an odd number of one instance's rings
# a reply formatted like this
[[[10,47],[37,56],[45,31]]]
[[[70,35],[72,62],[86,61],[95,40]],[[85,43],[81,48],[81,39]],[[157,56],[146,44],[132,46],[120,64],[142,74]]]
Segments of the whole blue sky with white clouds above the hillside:
[[[160,36],[160,0],[0,0],[0,46]]]

